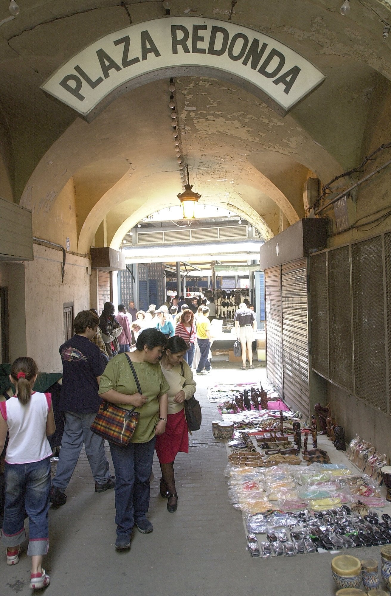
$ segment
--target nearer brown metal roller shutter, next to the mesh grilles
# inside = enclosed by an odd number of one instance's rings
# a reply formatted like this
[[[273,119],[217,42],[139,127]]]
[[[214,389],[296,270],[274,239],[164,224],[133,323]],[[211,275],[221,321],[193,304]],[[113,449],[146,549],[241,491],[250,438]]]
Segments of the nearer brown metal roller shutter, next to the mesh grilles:
[[[307,261],[281,266],[284,399],[309,415]]]

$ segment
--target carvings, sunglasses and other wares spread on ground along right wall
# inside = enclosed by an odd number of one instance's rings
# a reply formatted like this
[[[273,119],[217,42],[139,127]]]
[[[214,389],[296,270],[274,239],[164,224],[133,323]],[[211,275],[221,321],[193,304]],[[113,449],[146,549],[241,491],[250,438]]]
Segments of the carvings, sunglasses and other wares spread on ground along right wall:
[[[308,424],[260,383],[215,385],[208,398],[221,414],[213,436],[226,440],[228,498],[243,514],[252,557],[391,545],[391,516],[379,486],[387,470],[391,477],[389,462],[358,436],[347,457],[342,454],[343,428],[329,406],[316,404]],[[384,548],[391,553],[391,546]],[[349,575],[350,558],[333,560],[339,588],[358,588],[364,580],[366,587],[378,585],[376,561],[362,561],[364,567],[358,561]]]

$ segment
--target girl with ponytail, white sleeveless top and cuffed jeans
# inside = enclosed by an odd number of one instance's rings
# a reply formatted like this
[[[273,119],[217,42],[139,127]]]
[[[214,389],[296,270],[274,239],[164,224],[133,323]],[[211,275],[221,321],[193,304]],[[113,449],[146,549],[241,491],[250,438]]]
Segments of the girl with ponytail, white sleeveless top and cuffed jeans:
[[[38,367],[32,358],[17,358],[10,381],[15,395],[0,402],[0,452],[9,433],[5,454],[5,508],[1,542],[7,547],[7,565],[19,562],[20,544],[26,539],[24,511],[29,516],[29,547],[32,557],[30,588],[49,585],[42,569],[49,547],[50,457],[47,436],[55,432],[50,393],[33,391]]]

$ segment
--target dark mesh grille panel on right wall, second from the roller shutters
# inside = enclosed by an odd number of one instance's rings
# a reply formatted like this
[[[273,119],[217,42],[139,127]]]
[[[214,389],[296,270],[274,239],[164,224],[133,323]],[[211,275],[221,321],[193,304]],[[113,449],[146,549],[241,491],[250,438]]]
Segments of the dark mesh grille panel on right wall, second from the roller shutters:
[[[329,378],[353,392],[349,246],[328,253]]]

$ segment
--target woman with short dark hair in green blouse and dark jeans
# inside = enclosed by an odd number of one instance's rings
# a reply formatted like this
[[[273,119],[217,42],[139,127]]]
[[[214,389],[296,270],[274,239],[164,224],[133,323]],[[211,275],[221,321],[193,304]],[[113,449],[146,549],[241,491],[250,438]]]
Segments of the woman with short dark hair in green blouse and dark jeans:
[[[130,548],[134,525],[143,534],[153,530],[146,514],[156,436],[165,432],[167,423],[169,384],[159,364],[165,344],[163,333],[154,328],[145,329],[137,338],[135,352],[128,352],[142,394],[138,393],[125,354],[114,356],[101,375],[101,398],[121,408],[135,406],[135,411],[140,414],[128,447],[109,442],[116,472],[117,550]]]

